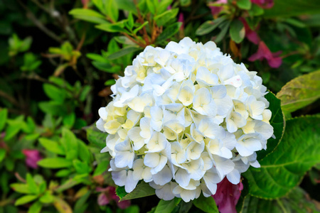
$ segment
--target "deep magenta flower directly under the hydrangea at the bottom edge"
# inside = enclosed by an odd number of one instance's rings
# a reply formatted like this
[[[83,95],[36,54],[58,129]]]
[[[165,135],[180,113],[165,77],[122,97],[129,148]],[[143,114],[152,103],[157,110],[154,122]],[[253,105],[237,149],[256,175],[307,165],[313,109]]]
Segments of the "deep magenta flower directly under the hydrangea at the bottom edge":
[[[238,185],[233,185],[227,178],[218,183],[217,192],[212,197],[218,205],[219,212],[221,213],[237,213],[235,205],[238,203],[239,197],[243,190],[242,182]]]

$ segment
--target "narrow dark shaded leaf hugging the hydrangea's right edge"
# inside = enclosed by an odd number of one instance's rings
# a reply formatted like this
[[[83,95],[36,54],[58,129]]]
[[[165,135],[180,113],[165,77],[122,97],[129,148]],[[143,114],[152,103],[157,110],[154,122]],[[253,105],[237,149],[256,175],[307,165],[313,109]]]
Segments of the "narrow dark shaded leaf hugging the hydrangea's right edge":
[[[280,143],[285,129],[285,117],[281,109],[281,102],[272,92],[265,95],[265,98],[270,103],[269,108],[272,112],[270,124],[273,127],[275,138],[269,138],[267,141],[267,150],[257,152],[257,160],[265,158],[266,155],[272,153],[274,148]]]

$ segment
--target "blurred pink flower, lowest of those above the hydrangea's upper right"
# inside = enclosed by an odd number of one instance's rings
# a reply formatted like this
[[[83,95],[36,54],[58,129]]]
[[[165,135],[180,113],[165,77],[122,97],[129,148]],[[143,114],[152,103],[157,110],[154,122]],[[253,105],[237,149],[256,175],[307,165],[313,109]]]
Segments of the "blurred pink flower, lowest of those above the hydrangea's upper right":
[[[281,53],[281,51],[277,53],[271,53],[267,45],[265,45],[263,41],[260,41],[257,53],[251,55],[248,60],[255,61],[263,60],[265,58],[270,67],[277,68],[282,64],[282,58],[279,57]]]

